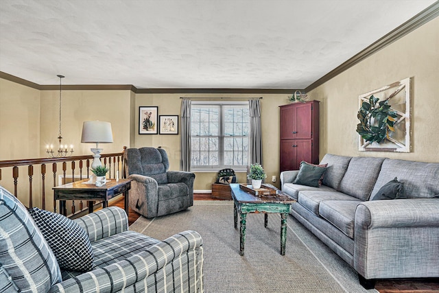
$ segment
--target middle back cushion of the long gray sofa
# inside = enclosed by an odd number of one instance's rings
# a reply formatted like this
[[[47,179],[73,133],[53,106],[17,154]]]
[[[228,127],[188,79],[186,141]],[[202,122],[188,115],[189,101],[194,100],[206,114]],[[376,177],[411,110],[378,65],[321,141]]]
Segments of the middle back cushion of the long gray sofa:
[[[364,156],[352,158],[337,190],[359,200],[368,200],[384,159]]]

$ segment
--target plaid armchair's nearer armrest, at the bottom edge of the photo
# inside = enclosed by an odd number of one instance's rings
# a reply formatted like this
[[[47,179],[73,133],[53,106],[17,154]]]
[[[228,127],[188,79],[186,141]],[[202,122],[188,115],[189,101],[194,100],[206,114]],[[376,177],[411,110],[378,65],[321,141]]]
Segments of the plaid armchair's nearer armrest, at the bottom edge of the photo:
[[[171,292],[172,288],[182,284],[188,287],[181,288],[182,291],[202,292],[202,263],[200,234],[184,231],[126,260],[62,281],[49,292],[82,292],[82,288],[95,290],[89,292],[98,292],[98,288],[105,292],[119,292],[125,288],[132,289],[134,284],[138,291],[145,289],[144,285],[153,285],[153,288],[167,288],[164,291]],[[169,274],[172,270],[176,273]]]

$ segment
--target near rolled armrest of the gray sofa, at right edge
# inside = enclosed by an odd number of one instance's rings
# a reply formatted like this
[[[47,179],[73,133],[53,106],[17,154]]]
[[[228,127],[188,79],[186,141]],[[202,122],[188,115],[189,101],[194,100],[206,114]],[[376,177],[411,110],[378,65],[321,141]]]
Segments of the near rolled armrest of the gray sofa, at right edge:
[[[366,279],[439,276],[439,200],[362,202],[355,211],[354,268]]]

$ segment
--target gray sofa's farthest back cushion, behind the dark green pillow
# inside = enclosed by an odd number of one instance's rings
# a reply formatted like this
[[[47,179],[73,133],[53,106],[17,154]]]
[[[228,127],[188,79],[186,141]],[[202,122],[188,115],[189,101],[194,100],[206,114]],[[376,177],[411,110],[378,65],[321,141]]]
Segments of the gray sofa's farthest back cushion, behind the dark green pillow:
[[[323,185],[338,189],[351,159],[351,156],[325,154],[322,161],[320,161],[320,165],[328,164],[328,169],[323,177]]]

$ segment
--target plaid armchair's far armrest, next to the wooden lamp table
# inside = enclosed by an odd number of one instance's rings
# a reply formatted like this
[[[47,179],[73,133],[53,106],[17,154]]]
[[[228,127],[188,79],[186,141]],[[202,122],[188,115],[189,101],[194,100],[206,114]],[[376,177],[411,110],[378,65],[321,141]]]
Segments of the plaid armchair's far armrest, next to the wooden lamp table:
[[[128,231],[128,216],[119,207],[107,207],[73,221],[84,228],[91,242]]]

